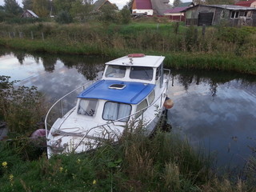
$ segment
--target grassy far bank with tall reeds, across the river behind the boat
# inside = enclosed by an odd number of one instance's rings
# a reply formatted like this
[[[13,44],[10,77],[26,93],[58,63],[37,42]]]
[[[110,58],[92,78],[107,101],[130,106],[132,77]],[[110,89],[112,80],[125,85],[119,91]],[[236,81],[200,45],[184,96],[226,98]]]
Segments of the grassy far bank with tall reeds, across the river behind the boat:
[[[40,23],[1,24],[0,33],[0,46],[27,51],[97,54],[111,58],[134,52],[160,54],[166,56],[166,66],[170,68],[256,74],[256,30],[253,27],[209,27],[202,34],[202,27],[173,23],[108,26]]]

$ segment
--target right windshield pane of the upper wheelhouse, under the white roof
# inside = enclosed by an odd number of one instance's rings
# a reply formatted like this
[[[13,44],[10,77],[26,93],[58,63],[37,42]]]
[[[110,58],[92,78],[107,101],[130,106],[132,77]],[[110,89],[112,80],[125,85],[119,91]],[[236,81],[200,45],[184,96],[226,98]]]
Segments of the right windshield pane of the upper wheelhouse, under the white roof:
[[[152,80],[153,68],[146,66],[132,66],[130,68],[130,78]]]

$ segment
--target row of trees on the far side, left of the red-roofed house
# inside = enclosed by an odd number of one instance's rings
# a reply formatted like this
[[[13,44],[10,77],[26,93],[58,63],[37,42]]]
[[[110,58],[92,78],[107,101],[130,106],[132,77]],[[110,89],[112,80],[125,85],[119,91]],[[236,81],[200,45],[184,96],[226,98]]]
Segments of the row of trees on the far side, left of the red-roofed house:
[[[16,0],[4,0],[4,5],[0,6],[0,22],[10,18],[20,18],[24,10],[33,10],[39,18],[52,17],[60,23],[69,23],[73,20],[86,22],[90,18],[130,22],[130,2],[118,11],[118,6],[115,4],[105,4],[101,6],[101,10],[95,10],[93,0],[22,0],[23,8]]]

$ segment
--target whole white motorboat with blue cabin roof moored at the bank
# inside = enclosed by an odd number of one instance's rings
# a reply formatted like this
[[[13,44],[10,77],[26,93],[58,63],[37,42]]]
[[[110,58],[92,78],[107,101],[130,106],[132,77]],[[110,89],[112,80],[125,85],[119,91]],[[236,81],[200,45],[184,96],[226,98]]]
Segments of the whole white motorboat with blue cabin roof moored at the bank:
[[[102,79],[78,94],[76,106],[50,126],[46,115],[47,154],[81,153],[117,142],[130,124],[143,122],[151,134],[165,110],[170,70],[162,56],[129,54],[106,62]],[[50,129],[50,130],[49,130]]]

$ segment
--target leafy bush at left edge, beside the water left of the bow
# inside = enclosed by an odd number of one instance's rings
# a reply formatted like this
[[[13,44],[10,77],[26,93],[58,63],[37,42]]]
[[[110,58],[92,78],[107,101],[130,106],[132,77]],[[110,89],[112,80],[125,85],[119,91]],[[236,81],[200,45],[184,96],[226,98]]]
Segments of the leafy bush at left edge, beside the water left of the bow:
[[[0,76],[0,118],[6,122],[10,134],[29,136],[46,113],[46,106],[36,87],[16,88],[15,82]]]

